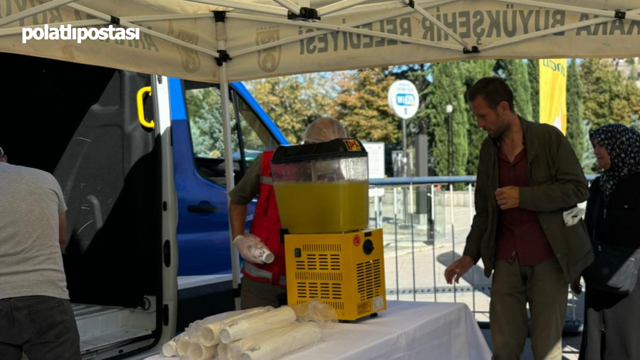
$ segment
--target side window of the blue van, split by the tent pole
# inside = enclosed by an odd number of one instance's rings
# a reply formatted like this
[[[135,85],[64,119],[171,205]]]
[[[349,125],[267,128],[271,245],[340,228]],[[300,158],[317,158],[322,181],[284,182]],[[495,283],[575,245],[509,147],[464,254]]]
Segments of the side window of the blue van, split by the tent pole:
[[[185,89],[193,156],[198,172],[213,183],[225,186],[220,88],[185,81]],[[235,90],[231,90],[230,101],[232,156],[237,183],[259,154],[275,150],[278,143],[251,106]]]

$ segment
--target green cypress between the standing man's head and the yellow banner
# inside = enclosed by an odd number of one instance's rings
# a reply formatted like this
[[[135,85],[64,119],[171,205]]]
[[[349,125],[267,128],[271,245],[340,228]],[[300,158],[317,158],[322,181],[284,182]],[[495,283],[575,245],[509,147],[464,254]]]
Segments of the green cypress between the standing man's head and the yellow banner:
[[[513,91],[513,106],[516,113],[524,119],[531,120],[531,83],[524,61],[519,59],[504,59],[497,62],[497,72]]]

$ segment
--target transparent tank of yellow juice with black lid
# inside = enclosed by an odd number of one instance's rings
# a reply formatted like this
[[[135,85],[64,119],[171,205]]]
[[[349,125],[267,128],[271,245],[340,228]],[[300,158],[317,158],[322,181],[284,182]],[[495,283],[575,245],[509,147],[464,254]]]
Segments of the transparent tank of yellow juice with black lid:
[[[369,167],[358,140],[280,147],[271,175],[289,233],[345,233],[369,224]]]

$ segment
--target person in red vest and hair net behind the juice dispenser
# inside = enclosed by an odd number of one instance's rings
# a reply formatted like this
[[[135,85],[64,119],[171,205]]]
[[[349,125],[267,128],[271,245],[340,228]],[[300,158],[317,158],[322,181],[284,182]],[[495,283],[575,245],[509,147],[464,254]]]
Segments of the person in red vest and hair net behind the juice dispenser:
[[[314,120],[302,135],[304,143],[326,142],[346,138],[338,120],[323,117]],[[273,151],[265,151],[253,162],[243,179],[229,192],[231,233],[244,258],[241,307],[278,307],[285,303],[284,246],[280,243],[280,215],[271,179]],[[250,234],[244,232],[247,204],[256,196]]]

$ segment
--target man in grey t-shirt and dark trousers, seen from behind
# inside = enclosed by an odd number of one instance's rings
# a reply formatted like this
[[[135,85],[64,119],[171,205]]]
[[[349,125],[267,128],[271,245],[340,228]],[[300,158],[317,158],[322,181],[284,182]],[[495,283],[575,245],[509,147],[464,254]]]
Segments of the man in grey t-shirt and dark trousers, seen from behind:
[[[0,359],[80,360],[61,249],[67,206],[58,181],[10,165],[0,149]]]

